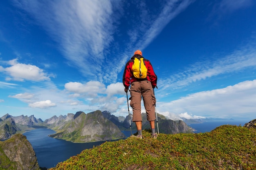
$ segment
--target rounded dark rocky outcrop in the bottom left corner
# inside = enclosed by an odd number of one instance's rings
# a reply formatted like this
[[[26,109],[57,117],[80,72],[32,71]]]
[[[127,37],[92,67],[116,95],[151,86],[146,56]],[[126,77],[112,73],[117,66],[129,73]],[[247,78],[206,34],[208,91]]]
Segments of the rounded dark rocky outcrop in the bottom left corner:
[[[0,168],[40,170],[36,154],[24,135],[16,134],[0,142]]]

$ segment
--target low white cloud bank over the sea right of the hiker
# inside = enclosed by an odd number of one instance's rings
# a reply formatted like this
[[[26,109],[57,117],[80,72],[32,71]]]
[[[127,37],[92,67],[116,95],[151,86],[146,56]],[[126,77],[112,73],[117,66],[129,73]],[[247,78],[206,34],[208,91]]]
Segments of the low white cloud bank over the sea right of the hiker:
[[[211,91],[193,93],[186,97],[171,101],[159,102],[158,111],[168,113],[189,113],[204,117],[248,117],[256,110],[256,79],[240,82]]]

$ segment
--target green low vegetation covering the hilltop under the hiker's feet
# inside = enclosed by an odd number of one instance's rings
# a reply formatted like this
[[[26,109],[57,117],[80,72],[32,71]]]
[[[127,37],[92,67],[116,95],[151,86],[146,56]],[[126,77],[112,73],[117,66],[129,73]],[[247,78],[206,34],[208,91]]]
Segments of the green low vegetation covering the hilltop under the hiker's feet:
[[[105,142],[51,170],[255,170],[256,129],[224,125],[198,134]]]

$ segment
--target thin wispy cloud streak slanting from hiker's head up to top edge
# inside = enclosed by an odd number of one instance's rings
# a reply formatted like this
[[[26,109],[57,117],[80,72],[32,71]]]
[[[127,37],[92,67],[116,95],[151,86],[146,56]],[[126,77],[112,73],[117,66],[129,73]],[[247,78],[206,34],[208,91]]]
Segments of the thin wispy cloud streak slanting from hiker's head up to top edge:
[[[133,51],[137,49],[143,50],[152,42],[157,35],[164,29],[164,27],[179,13],[181,13],[186,7],[188,7],[194,0],[171,0],[166,3],[160,4],[162,6],[158,14],[152,15],[150,11],[147,10],[146,4],[141,1],[137,7],[136,14],[132,14],[133,17],[130,21],[130,27],[126,30],[128,34],[128,42],[124,44],[126,50],[121,54],[123,56],[119,64],[115,62],[108,62],[110,65],[107,67],[107,77],[108,81],[116,80],[117,73],[123,71],[124,65],[128,58],[131,57]],[[119,56],[119,55],[117,55]],[[112,78],[114,77],[114,79]]]

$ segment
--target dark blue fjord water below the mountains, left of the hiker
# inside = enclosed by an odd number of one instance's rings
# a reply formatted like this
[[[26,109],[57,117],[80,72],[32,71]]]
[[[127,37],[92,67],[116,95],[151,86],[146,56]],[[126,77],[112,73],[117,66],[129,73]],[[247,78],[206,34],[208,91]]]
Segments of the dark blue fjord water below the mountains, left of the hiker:
[[[130,131],[122,131],[126,137],[130,136]],[[136,131],[132,131],[135,133]],[[58,162],[67,160],[68,158],[81,153],[85,149],[99,146],[105,141],[91,143],[72,143],[62,139],[55,139],[48,135],[54,134],[55,131],[47,128],[40,128],[25,132],[23,135],[31,143],[37,157],[40,167],[52,168]]]

